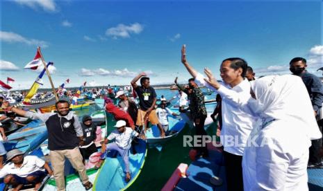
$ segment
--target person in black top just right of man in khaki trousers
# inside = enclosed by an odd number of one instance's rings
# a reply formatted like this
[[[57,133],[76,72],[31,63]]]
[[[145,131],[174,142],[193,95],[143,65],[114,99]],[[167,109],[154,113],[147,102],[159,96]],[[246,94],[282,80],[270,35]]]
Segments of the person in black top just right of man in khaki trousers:
[[[90,155],[94,152],[97,152],[97,147],[95,146],[95,139],[97,138],[97,126],[92,122],[91,116],[83,116],[81,123],[84,136],[84,145],[80,147],[80,152],[83,156],[83,163],[85,159],[88,159]]]

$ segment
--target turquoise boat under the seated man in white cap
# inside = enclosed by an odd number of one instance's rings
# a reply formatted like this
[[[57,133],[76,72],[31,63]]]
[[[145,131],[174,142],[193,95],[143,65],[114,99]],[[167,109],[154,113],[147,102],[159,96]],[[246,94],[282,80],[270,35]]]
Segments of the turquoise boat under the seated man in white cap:
[[[122,156],[115,157],[114,152],[109,152],[110,154],[95,177],[93,190],[126,190],[135,182],[147,156],[146,143],[141,139],[138,142],[138,145],[135,145],[137,154],[129,154],[131,180],[128,183],[125,181],[126,174]]]

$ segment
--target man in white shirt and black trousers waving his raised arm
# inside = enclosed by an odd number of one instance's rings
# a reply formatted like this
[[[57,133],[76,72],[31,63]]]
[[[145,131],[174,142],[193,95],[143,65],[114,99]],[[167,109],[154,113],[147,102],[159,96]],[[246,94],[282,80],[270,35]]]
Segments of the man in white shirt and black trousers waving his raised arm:
[[[182,63],[188,72],[195,78],[195,82],[204,85],[217,93],[220,90],[211,87],[205,82],[204,76],[195,71],[186,60],[185,46],[182,48]],[[239,57],[228,58],[222,61],[220,75],[222,84],[240,93],[246,100],[250,98],[250,84],[245,78],[247,62]],[[222,96],[222,95],[221,95]],[[251,112],[245,112],[235,107],[235,104],[222,96],[222,122],[221,143],[224,146],[224,161],[226,163],[226,183],[228,190],[243,190],[242,181],[242,154],[247,144],[247,139],[255,123]],[[237,144],[238,143],[238,144]]]

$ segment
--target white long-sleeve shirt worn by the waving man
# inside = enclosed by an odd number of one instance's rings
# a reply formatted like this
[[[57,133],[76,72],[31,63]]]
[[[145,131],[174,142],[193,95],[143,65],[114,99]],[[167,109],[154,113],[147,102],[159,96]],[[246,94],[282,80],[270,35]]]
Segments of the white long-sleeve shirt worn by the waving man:
[[[222,89],[215,89],[211,87],[204,80],[204,76],[201,73],[197,74],[195,82],[199,85],[204,85],[222,96],[222,130],[221,130],[221,143],[224,146],[224,151],[231,154],[242,156],[245,146],[247,144],[247,139],[256,123],[256,118],[251,115],[251,112],[246,112],[245,109],[238,107],[235,102],[227,99],[226,96],[222,94]],[[222,86],[227,89],[231,89],[239,93],[240,100],[249,100],[250,96],[250,83],[247,79],[240,82],[240,84],[231,88],[229,84],[220,82]],[[246,108],[248,109],[248,108]]]

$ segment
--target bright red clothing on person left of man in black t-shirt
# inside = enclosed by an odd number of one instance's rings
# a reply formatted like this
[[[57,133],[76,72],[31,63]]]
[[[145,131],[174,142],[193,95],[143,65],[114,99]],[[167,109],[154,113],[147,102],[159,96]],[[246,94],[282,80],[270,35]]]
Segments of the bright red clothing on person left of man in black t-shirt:
[[[106,111],[113,114],[115,120],[124,120],[126,121],[127,127],[131,127],[133,130],[135,130],[135,123],[133,122],[133,119],[131,118],[129,113],[120,109],[119,107],[116,107],[115,104],[113,104],[113,100],[111,100],[111,98],[107,98],[106,102]]]

